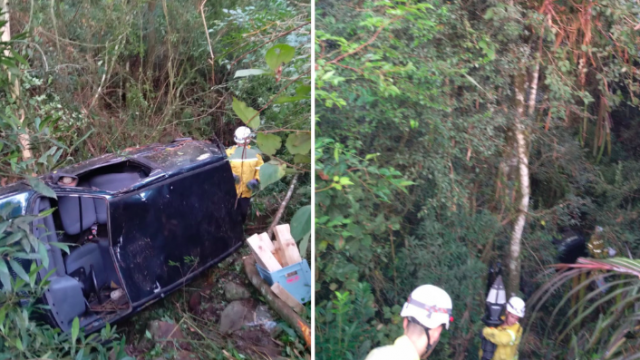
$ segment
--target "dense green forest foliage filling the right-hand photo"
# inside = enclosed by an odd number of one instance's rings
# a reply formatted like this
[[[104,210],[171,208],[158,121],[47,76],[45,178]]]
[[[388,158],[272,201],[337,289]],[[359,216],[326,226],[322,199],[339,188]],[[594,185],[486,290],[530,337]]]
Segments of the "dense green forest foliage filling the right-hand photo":
[[[319,358],[392,342],[399,306],[423,283],[454,301],[432,357],[476,356],[487,264],[509,260],[518,215],[514,119],[531,199],[521,286],[509,291],[526,299],[548,278],[564,228],[598,224],[607,246],[638,254],[639,11],[627,1],[316,3]],[[521,352],[538,358],[546,324],[534,325]],[[567,355],[564,342],[545,346]]]

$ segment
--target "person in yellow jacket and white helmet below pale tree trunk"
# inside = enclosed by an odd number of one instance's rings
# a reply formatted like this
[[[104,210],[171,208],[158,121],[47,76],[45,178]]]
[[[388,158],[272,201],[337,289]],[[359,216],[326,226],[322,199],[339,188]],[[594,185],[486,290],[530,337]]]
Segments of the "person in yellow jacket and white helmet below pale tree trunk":
[[[502,325],[497,328],[482,329],[482,335],[497,346],[492,360],[518,359],[518,345],[522,339],[522,326],[518,321],[524,317],[524,309],[524,300],[514,296],[507,302],[507,311]],[[480,350],[480,358],[482,358],[482,350]]]

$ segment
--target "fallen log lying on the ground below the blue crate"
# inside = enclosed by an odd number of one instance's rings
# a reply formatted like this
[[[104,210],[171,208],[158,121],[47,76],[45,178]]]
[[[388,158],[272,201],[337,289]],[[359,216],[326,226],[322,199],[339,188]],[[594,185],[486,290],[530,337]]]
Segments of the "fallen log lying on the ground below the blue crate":
[[[287,303],[282,301],[276,293],[271,290],[269,284],[260,277],[258,273],[258,269],[256,269],[256,259],[253,255],[245,256],[243,258],[244,261],[244,271],[247,274],[247,277],[264,296],[265,300],[271,306],[273,310],[275,310],[280,317],[284,321],[289,324],[295,332],[300,335],[304,341],[307,343],[307,346],[311,346],[311,329],[309,328],[309,324],[304,321],[298,314]]]

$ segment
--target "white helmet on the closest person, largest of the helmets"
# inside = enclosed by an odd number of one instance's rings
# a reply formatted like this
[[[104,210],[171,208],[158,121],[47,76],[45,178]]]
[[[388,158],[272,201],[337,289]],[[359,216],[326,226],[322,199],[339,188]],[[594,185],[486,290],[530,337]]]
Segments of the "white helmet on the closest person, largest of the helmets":
[[[449,330],[453,304],[446,291],[433,285],[417,287],[404,303],[400,316],[413,317],[429,329],[444,324]]]

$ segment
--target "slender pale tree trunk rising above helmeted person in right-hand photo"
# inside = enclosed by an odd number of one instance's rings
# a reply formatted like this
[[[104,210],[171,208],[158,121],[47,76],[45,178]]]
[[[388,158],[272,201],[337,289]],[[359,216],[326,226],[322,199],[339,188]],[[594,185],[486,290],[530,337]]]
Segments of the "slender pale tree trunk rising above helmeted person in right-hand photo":
[[[523,64],[524,67],[524,64]],[[536,67],[537,70],[537,67]],[[511,243],[509,246],[509,290],[512,293],[517,293],[520,289],[520,250],[522,245],[522,233],[524,231],[524,225],[527,220],[527,211],[529,210],[529,153],[528,153],[528,138],[529,131],[525,126],[526,120],[526,102],[525,102],[525,81],[526,72],[522,72],[515,77],[515,92],[516,92],[516,116],[514,119],[514,135],[516,145],[516,155],[518,158],[518,180],[520,190],[518,205],[518,217],[513,226],[513,233],[511,234]],[[529,103],[530,112],[535,107],[535,96],[537,90],[537,72],[534,76],[534,81],[531,84],[531,96],[533,97],[533,105]]]

